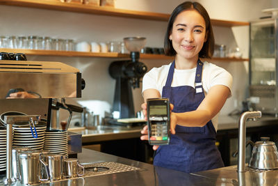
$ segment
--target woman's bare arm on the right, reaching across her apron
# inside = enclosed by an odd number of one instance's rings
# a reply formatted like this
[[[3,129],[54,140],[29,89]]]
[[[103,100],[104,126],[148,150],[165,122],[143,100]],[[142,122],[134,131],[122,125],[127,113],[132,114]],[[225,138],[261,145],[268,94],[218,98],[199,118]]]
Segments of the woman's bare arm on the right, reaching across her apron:
[[[171,114],[171,131],[177,123],[186,127],[202,127],[211,120],[230,95],[230,89],[224,85],[215,85],[208,90],[208,94],[195,111]]]

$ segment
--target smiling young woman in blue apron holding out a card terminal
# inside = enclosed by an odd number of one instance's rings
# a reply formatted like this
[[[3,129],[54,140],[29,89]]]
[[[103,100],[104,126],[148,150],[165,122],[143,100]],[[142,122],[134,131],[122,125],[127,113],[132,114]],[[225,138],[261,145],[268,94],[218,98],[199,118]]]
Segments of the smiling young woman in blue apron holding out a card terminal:
[[[154,165],[184,172],[224,166],[215,146],[218,113],[231,95],[232,77],[199,58],[211,58],[213,30],[208,13],[197,3],[186,1],[174,9],[165,34],[165,54],[175,56],[169,65],[153,68],[143,78],[147,98],[169,98],[171,102],[170,144],[154,146]],[[146,103],[142,109],[146,116]],[[147,140],[147,126],[141,139]]]

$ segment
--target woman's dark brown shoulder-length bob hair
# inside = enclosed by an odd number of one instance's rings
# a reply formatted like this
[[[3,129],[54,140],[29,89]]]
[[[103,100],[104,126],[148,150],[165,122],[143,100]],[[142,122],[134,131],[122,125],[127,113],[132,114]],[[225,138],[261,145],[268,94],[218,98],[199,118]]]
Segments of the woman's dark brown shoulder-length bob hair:
[[[169,39],[170,34],[172,33],[174,20],[176,20],[177,15],[179,13],[183,12],[184,10],[197,10],[197,12],[202,15],[204,18],[204,21],[206,22],[206,33],[207,33],[207,39],[206,42],[204,42],[204,45],[199,52],[200,58],[211,58],[214,52],[214,36],[213,36],[213,29],[211,27],[211,19],[209,18],[208,13],[206,12],[206,9],[197,2],[191,2],[191,1],[185,1],[181,3],[177,8],[174,9],[172,12],[170,19],[168,21],[167,25],[167,31],[165,33],[164,38],[164,50],[166,56],[175,56],[177,52],[174,50],[172,41]]]

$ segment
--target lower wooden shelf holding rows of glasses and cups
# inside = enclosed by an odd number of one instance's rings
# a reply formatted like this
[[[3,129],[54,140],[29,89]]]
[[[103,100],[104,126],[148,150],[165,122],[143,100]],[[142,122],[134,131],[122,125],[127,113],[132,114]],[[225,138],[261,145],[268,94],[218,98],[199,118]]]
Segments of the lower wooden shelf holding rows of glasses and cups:
[[[31,56],[67,56],[67,57],[95,57],[95,58],[129,58],[129,54],[120,54],[117,52],[75,52],[75,51],[57,51],[57,50],[42,50],[42,49],[4,49],[0,48],[0,52],[24,53]],[[173,56],[165,56],[161,54],[140,54],[140,59],[170,59]],[[231,59],[231,58],[213,58],[206,61],[249,61],[249,59]]]

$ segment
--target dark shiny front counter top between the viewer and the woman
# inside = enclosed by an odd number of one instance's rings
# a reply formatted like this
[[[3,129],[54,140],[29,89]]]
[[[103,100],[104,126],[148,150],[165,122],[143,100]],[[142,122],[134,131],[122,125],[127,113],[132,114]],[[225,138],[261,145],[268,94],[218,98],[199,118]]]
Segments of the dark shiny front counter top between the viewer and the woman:
[[[128,160],[114,155],[99,153],[95,150],[83,148],[83,153],[78,155],[81,163],[88,162],[117,162],[127,166],[133,166],[138,170],[124,171],[120,173],[107,173],[99,176],[75,178],[72,180],[55,181],[40,185],[277,185],[278,170],[237,173],[236,166],[227,166],[220,169],[212,169],[198,173],[183,173],[171,169],[164,169],[152,164],[145,164]],[[13,185],[21,185],[19,182]]]

